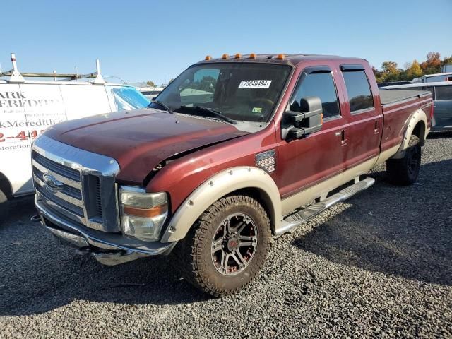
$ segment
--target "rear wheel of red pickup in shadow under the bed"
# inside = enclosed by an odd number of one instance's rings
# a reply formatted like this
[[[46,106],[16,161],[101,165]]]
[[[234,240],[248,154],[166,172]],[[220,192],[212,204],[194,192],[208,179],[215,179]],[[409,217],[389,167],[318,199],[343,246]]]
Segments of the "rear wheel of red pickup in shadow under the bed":
[[[386,174],[391,184],[408,186],[414,184],[421,166],[421,144],[417,136],[410,136],[405,156],[401,159],[389,159],[386,162]]]

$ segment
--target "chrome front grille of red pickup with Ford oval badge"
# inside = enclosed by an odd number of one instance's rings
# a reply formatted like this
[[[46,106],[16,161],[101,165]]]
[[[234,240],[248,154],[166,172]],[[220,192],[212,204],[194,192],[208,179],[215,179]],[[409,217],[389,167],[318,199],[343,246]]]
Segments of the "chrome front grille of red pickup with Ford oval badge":
[[[32,146],[32,172],[38,210],[42,206],[95,230],[121,230],[115,160],[40,136]]]

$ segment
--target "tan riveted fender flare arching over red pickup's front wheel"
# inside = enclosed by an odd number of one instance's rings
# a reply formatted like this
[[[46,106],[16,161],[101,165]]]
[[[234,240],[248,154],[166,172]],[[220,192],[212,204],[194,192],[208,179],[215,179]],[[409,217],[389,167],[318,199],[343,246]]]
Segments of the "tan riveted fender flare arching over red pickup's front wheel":
[[[258,189],[268,207],[270,224],[278,229],[281,217],[281,198],[270,175],[257,167],[232,167],[219,172],[195,189],[172,216],[160,242],[184,239],[191,225],[212,203],[239,189]],[[273,230],[274,231],[274,230]]]

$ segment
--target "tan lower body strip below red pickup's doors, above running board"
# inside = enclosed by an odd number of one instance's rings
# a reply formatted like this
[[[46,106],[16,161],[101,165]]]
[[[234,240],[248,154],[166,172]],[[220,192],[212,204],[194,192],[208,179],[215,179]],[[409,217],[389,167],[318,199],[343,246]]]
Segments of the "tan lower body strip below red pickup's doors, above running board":
[[[397,146],[392,155],[397,152],[399,147],[400,145]],[[390,152],[388,152],[388,154],[388,157],[391,157]],[[335,175],[334,177],[331,177],[330,179],[326,179],[319,184],[309,187],[309,189],[305,189],[304,191],[294,194],[289,198],[285,198],[283,201],[281,201],[281,209],[283,215],[286,215],[290,211],[295,210],[295,208],[306,205],[307,203],[313,201],[316,198],[319,198],[320,196],[323,196],[324,194],[328,194],[328,192],[333,191],[333,189],[337,189],[339,186],[350,182],[359,175],[368,172],[372,167],[374,167],[377,160],[379,160],[379,157],[372,157],[371,159],[362,162],[362,164],[347,169],[345,172],[342,172],[338,175]]]

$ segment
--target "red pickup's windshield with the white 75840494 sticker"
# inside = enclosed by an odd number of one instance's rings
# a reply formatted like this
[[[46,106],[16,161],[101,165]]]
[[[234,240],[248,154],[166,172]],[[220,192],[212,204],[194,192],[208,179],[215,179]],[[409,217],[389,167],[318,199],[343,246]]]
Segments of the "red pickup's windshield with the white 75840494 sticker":
[[[267,121],[289,73],[287,65],[197,64],[170,83],[157,99],[177,113],[204,115],[206,109],[191,107],[207,107],[234,120]],[[150,107],[162,109],[157,103]]]

